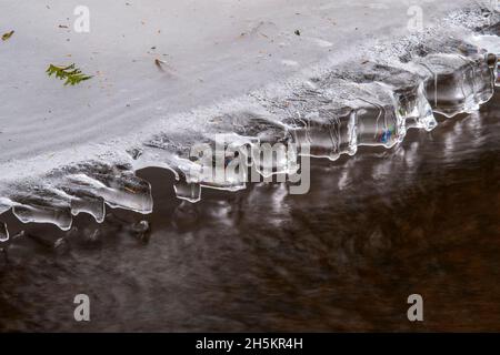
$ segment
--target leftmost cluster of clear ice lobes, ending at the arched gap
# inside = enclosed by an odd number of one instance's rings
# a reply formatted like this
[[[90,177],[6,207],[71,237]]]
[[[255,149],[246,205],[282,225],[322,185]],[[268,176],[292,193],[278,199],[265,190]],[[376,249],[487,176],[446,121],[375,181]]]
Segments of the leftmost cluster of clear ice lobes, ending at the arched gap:
[[[51,223],[68,231],[72,219],[88,213],[102,222],[106,204],[139,213],[152,211],[151,186],[129,166],[86,163],[66,166],[42,176],[41,184],[14,191],[0,199],[0,212],[12,207],[23,223]]]

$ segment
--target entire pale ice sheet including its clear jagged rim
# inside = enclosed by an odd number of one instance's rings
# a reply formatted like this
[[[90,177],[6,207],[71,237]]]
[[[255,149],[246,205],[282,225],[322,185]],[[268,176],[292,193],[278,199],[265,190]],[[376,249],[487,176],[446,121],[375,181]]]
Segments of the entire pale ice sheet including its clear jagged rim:
[[[173,170],[190,201],[200,186],[244,187],[193,175],[189,149],[214,133],[307,143],[337,160],[431,131],[433,112],[477,111],[493,94],[497,14],[417,2],[418,33],[411,4],[392,0],[89,1],[91,32],[76,33],[77,2],[1,0],[16,33],[0,53],[0,212],[61,230],[81,212],[102,222],[107,205],[150,213],[150,184],[136,175],[148,166]],[[50,63],[71,62],[94,78],[74,88],[47,78]]]

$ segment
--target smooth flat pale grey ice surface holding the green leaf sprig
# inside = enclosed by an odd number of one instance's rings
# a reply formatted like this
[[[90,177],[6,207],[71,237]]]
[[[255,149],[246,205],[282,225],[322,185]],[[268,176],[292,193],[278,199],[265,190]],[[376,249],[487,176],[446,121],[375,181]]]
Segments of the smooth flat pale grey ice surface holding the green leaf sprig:
[[[0,171],[23,178],[124,151],[151,128],[182,131],[178,112],[243,95],[373,39],[408,32],[470,1],[88,0],[90,32],[77,33],[81,1],[0,0]],[[300,31],[301,36],[294,33]],[[162,70],[154,60],[164,61]],[[48,78],[77,63],[90,81]],[[202,118],[201,118],[202,119]],[[148,129],[146,129],[148,126]]]

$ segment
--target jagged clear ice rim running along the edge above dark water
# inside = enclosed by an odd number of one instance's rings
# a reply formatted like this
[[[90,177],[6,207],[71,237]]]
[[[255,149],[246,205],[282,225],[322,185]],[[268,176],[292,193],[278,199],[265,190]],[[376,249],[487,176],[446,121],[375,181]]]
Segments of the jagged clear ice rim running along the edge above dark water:
[[[469,20],[459,31],[438,26],[416,37],[417,41],[410,37],[400,40],[403,45],[386,43],[389,53],[372,51],[369,59],[327,64],[308,78],[254,90],[238,104],[200,111],[200,120],[187,119],[190,123],[181,129],[178,123],[158,126],[147,139],[131,142],[120,159],[88,160],[30,181],[2,182],[0,213],[11,210],[23,223],[53,223],[62,230],[71,229],[72,217],[79,213],[102,222],[107,207],[150,213],[150,185],[134,174],[146,166],[171,170],[178,196],[190,202],[201,199],[202,189],[244,189],[246,172],[223,180],[207,179],[192,156],[192,148],[200,144],[217,152],[216,135],[223,135],[224,152],[294,143],[309,146],[310,156],[331,161],[353,155],[362,145],[390,149],[404,139],[408,129],[433,130],[434,113],[452,118],[472,112],[492,97],[500,39],[498,24],[491,21],[500,23],[500,18],[491,12],[486,20],[481,8],[472,7],[452,14],[450,26],[463,17]],[[247,151],[250,156],[244,168],[256,169],[262,176],[298,169],[296,155],[269,163]],[[236,158],[212,156],[224,166]],[[0,223],[0,242],[8,239],[7,225]]]

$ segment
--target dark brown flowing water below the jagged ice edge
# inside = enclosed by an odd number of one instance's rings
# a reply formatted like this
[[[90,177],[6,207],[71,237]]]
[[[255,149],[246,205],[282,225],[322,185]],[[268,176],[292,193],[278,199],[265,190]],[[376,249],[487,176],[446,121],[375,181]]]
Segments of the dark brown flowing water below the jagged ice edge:
[[[22,226],[0,255],[0,329],[500,331],[499,158],[497,94],[390,151],[314,161],[308,195],[262,184],[192,205],[143,171],[152,215]],[[80,293],[89,323],[73,320]]]

